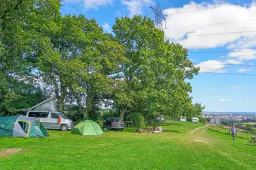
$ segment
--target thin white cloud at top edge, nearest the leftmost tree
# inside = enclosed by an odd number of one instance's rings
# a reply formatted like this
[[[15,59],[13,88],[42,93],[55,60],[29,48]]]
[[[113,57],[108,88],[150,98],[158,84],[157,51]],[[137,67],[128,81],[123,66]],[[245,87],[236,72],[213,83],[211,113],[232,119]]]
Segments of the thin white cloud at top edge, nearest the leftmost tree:
[[[111,4],[113,1],[114,0],[65,0],[66,3],[82,3],[84,9],[98,9],[98,7]]]

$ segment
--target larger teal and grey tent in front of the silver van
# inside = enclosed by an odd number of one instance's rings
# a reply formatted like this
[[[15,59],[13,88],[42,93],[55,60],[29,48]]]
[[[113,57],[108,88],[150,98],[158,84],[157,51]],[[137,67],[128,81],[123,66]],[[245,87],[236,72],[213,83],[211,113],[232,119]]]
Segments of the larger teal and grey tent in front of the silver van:
[[[0,137],[48,137],[40,120],[36,117],[0,117]]]

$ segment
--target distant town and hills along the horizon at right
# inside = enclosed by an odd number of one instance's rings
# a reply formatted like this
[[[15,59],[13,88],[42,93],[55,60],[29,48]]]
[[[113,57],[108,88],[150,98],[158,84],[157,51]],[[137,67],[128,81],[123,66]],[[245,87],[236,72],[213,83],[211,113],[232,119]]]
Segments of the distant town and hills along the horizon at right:
[[[203,117],[218,118],[222,122],[256,122],[256,112],[203,112]]]

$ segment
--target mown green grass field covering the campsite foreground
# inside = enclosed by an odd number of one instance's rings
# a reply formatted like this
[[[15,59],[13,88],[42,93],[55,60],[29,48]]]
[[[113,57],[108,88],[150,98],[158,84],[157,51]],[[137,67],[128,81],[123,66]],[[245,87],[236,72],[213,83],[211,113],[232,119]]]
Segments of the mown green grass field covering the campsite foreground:
[[[49,131],[48,138],[0,138],[3,148],[23,148],[0,157],[1,169],[255,169],[256,147],[248,141],[203,127],[169,122],[168,132],[139,134],[135,129],[82,137]]]

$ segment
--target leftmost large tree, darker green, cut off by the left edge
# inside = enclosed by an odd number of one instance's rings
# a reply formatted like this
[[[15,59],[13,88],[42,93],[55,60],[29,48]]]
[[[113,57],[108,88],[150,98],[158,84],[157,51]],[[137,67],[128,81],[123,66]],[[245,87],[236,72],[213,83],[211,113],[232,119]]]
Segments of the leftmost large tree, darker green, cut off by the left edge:
[[[26,104],[34,104],[31,95],[41,93],[34,87],[33,46],[41,36],[42,27],[59,14],[60,6],[59,0],[0,1],[1,110],[26,108]],[[21,103],[17,105],[17,102]]]

